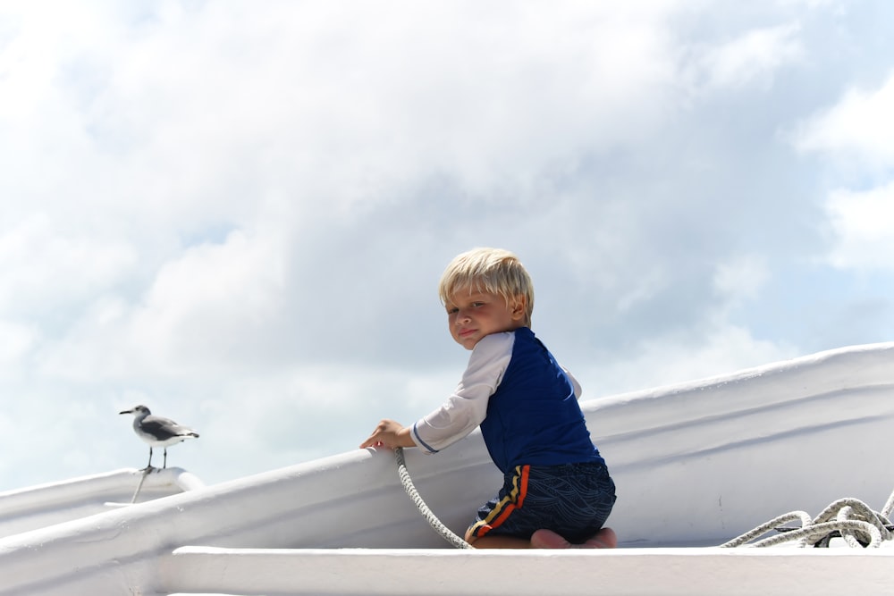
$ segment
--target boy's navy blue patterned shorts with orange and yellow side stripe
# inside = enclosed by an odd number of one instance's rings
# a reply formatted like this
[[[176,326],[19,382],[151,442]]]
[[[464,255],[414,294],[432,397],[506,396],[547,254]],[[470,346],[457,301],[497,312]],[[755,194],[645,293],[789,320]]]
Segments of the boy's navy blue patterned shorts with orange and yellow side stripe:
[[[516,466],[504,475],[499,494],[478,509],[468,536],[528,539],[545,528],[571,542],[586,541],[603,527],[615,499],[602,462]]]

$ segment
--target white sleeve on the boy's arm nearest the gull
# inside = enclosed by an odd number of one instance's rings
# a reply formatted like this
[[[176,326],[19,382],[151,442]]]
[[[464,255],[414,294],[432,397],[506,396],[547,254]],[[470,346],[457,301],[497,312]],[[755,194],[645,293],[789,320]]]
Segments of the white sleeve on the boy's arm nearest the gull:
[[[460,384],[443,406],[413,424],[413,442],[427,453],[460,441],[487,416],[487,401],[502,381],[512,358],[515,333],[493,333],[482,338],[468,357]]]

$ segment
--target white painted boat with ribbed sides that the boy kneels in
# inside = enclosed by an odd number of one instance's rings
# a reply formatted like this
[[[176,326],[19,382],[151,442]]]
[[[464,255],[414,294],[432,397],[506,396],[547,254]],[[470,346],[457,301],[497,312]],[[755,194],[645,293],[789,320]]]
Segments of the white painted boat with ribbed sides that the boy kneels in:
[[[449,550],[392,453],[358,450],[7,536],[0,594],[509,593],[470,580],[493,565],[519,593],[881,593],[894,549],[655,547],[719,544],[846,496],[880,509],[892,398],[882,344],[586,402],[619,487],[610,525],[627,548],[612,552]],[[501,481],[477,433],[407,465],[459,533]]]

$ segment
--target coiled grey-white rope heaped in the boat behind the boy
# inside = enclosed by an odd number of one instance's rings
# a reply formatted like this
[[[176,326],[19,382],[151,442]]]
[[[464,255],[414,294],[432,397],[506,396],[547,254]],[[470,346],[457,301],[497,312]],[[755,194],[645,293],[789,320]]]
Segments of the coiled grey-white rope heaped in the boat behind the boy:
[[[873,511],[859,499],[839,499],[823,509],[814,519],[804,511],[791,511],[774,517],[731,541],[724,542],[721,547],[742,545],[767,547],[791,541],[797,541],[801,548],[828,547],[832,538],[840,537],[853,548],[878,548],[881,542],[894,538],[894,533],[891,533],[894,526],[890,522],[892,511],[894,511],[894,492],[881,508],[881,512]],[[794,521],[800,521],[801,527],[780,527],[782,524]],[[773,529],[780,533],[748,544]]]

